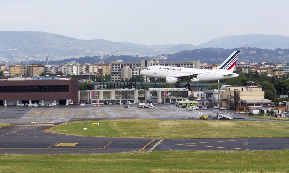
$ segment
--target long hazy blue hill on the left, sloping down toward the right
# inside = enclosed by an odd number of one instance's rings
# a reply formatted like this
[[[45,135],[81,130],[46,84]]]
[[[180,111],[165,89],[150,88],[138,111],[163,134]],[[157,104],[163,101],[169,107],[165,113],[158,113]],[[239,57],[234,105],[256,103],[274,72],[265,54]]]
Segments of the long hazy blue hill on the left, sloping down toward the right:
[[[45,60],[46,55],[54,60],[97,54],[156,56],[195,48],[198,47],[190,44],[148,46],[103,39],[79,40],[36,31],[0,31],[0,59],[10,61]]]

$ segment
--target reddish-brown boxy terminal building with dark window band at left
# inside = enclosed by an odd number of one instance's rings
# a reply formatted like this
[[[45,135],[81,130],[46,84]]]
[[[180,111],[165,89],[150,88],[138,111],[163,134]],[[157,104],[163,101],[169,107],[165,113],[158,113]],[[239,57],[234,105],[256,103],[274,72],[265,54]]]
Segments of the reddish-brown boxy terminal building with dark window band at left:
[[[78,78],[70,76],[37,76],[22,78],[20,75],[0,78],[0,105],[74,104],[78,101]]]

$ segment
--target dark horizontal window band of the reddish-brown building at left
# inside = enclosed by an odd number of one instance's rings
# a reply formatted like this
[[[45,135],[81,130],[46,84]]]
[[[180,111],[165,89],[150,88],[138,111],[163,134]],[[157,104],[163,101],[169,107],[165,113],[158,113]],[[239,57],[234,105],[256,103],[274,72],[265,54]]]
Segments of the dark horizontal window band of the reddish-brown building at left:
[[[0,86],[0,93],[69,92],[69,85]]]

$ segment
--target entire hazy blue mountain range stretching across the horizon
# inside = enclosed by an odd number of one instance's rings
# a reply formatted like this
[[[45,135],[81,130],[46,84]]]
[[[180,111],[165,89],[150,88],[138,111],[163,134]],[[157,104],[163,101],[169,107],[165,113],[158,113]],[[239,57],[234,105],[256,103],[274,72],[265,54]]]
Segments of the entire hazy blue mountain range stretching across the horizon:
[[[216,38],[197,46],[191,44],[143,45],[112,42],[103,39],[80,40],[63,35],[38,31],[0,31],[0,60],[29,61],[66,59],[102,55],[173,54],[184,50],[219,47],[226,49],[257,47],[265,49],[289,48],[289,37],[282,35],[231,35]],[[1,61],[0,61],[1,63]]]

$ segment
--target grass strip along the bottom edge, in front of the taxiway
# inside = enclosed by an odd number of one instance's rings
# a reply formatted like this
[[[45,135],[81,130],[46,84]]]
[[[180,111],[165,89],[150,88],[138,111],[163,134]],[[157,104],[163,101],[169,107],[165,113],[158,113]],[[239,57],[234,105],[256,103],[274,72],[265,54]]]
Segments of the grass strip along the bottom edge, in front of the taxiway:
[[[0,172],[289,172],[289,150],[1,155]]]

